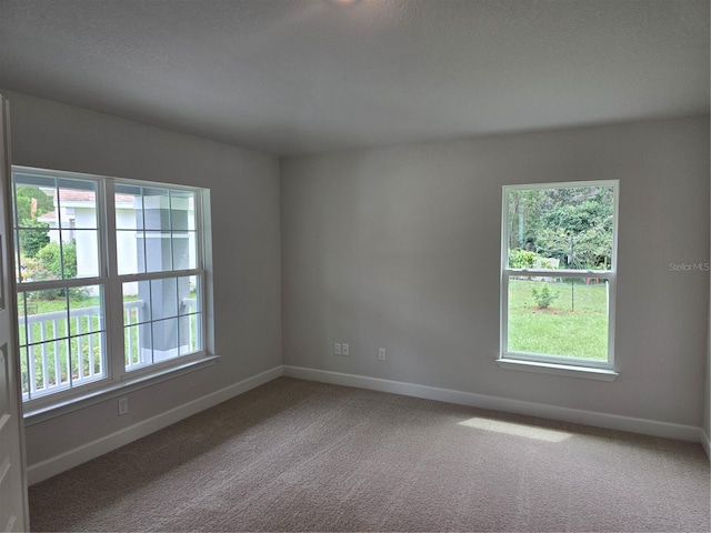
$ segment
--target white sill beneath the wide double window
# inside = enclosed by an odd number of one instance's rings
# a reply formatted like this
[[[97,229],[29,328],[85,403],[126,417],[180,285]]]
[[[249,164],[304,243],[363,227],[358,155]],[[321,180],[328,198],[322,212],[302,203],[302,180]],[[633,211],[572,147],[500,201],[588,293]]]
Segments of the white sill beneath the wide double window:
[[[218,361],[219,355],[209,355],[197,361],[186,362],[179,366],[172,366],[162,371],[144,374],[134,379],[124,380],[119,383],[110,383],[107,386],[78,394],[70,399],[63,399],[49,405],[27,409],[24,411],[24,425],[30,426],[39,424],[56,416],[61,416],[73,411],[86,409],[97,403],[106,402],[119,396],[124,396],[132,392],[146,389],[168,380],[172,380],[180,375],[196,372],[207,366],[213,365]]]

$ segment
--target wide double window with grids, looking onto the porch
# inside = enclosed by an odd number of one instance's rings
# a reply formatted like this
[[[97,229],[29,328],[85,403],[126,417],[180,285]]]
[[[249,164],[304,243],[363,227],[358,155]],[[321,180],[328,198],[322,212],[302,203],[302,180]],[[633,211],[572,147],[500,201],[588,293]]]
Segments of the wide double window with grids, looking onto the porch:
[[[29,405],[207,359],[208,191],[20,167],[12,180]]]

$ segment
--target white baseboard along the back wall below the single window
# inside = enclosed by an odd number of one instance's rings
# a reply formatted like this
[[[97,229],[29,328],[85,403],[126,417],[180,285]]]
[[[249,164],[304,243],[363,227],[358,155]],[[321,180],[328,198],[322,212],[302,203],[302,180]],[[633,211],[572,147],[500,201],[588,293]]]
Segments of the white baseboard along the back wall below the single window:
[[[560,420],[577,424],[593,425],[609,430],[629,431],[652,436],[663,436],[667,439],[678,439],[682,441],[701,442],[708,446],[709,439],[702,436],[701,428],[683,424],[671,424],[655,420],[635,419],[631,416],[620,416],[580,409],[559,408],[542,403],[530,403],[520,400],[509,400],[500,396],[488,396],[471,392],[453,391],[434,386],[404,383],[401,381],[381,380],[379,378],[368,378],[356,374],[343,374],[324,370],[306,369],[301,366],[283,366],[283,375],[302,380],[319,381],[337,385],[358,386],[373,391],[391,392],[405,396],[423,398],[427,400],[438,400],[441,402],[471,405],[494,411],[540,416],[551,420]],[[707,453],[709,449],[707,447]]]

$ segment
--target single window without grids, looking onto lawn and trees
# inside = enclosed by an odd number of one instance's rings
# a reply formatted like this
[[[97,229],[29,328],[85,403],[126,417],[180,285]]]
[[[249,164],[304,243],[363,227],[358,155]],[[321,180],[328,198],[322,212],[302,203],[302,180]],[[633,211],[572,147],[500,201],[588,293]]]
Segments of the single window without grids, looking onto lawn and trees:
[[[500,363],[613,370],[618,189],[503,188]]]

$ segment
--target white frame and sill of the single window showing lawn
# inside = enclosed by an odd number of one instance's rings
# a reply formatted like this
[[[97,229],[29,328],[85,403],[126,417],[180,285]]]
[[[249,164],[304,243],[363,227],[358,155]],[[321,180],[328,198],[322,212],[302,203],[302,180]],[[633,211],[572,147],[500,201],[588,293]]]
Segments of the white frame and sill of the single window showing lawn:
[[[509,280],[512,276],[550,276],[549,269],[511,269],[509,268],[509,197],[513,191],[537,189],[572,189],[585,187],[610,187],[613,191],[613,231],[612,253],[609,270],[554,270],[555,278],[598,278],[605,280],[608,285],[608,360],[593,361],[580,358],[551,355],[541,353],[513,352],[509,350]],[[500,298],[501,298],[501,326],[500,326],[500,354],[497,360],[502,369],[523,370],[528,372],[542,372],[550,374],[568,375],[573,378],[588,378],[602,381],[612,381],[619,374],[614,370],[614,310],[617,296],[617,269],[618,269],[618,229],[619,229],[619,180],[599,181],[570,181],[553,183],[530,183],[517,185],[503,185],[501,203],[501,271],[500,271]]]

